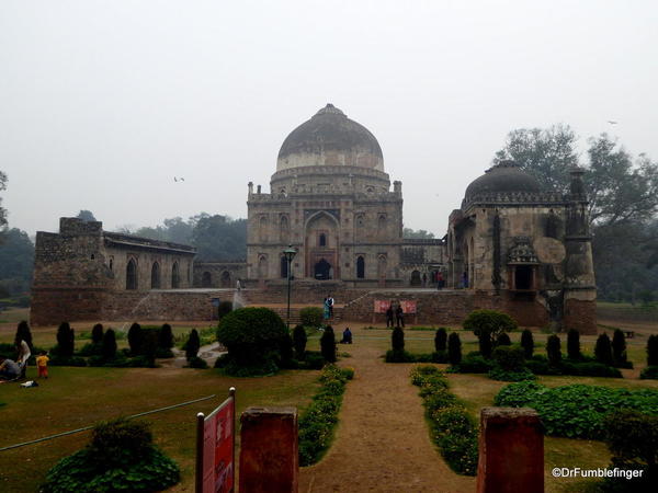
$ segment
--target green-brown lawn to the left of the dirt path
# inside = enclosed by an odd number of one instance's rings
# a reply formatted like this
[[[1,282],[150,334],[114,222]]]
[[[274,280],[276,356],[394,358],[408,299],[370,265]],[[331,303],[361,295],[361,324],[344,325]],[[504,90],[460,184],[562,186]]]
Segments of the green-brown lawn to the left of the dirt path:
[[[318,371],[284,371],[239,379],[213,369],[178,368],[52,367],[49,372],[50,378],[37,388],[0,385],[5,403],[0,406],[0,447],[217,393],[215,400],[143,419],[152,423],[156,443],[181,466],[177,490],[188,491],[193,488],[197,412],[214,409],[231,386],[237,388],[238,412],[249,405],[304,408],[316,392],[319,376]],[[0,452],[0,490],[36,491],[48,469],[88,439],[89,433],[81,433]]]

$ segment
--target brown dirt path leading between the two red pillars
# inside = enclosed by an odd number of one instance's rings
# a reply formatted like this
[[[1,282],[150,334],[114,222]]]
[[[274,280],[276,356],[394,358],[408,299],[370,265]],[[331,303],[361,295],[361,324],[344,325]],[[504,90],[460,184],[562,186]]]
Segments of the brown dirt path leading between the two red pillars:
[[[475,479],[452,472],[431,444],[411,365],[385,364],[381,349],[359,344],[359,332],[341,363],[355,377],[336,439],[318,465],[300,470],[299,492],[475,491]]]

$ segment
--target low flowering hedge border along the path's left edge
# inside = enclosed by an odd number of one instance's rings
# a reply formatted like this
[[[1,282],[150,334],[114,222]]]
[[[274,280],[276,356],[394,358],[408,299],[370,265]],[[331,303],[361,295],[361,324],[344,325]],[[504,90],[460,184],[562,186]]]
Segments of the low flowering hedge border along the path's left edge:
[[[320,390],[299,417],[299,466],[318,462],[333,438],[338,413],[348,380],[354,377],[352,368],[327,365],[320,375]]]

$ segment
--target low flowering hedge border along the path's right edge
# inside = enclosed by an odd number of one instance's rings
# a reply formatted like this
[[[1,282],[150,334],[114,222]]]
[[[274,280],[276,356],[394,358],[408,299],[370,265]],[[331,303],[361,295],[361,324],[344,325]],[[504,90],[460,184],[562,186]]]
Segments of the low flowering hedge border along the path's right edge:
[[[464,404],[449,391],[447,379],[435,366],[417,366],[411,383],[420,387],[420,395],[430,423],[432,442],[443,459],[457,474],[476,475],[478,428]]]

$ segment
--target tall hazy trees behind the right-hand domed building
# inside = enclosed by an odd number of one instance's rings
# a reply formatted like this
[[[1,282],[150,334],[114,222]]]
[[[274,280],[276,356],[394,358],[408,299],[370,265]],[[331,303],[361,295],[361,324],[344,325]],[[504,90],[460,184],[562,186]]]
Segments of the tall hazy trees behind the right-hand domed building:
[[[508,134],[494,162],[512,159],[544,185],[567,192],[569,170],[585,170],[590,199],[594,273],[599,297],[658,297],[658,163],[633,156],[608,134],[587,140],[585,156],[568,125]]]

